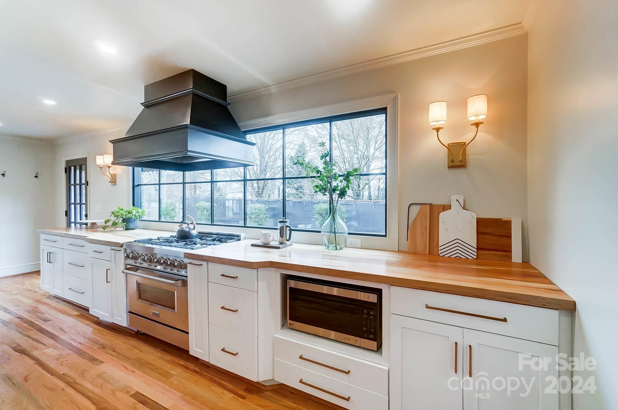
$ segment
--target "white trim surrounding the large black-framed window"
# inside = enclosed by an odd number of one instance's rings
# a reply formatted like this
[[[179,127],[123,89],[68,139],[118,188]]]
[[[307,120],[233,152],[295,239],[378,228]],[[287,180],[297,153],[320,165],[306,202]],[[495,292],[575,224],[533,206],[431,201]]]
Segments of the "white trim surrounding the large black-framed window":
[[[342,102],[330,106],[310,108],[302,111],[287,112],[285,114],[271,115],[260,119],[250,120],[239,123],[243,131],[255,128],[271,127],[290,122],[311,120],[321,117],[331,117],[332,115],[347,114],[349,112],[365,111],[374,108],[386,107],[386,237],[384,236],[364,236],[349,235],[361,240],[362,248],[386,249],[397,251],[399,249],[399,225],[397,224],[397,193],[399,191],[397,178],[397,146],[399,144],[399,93],[386,94],[382,96],[359,99],[356,101]],[[143,222],[145,228],[174,230],[177,224],[166,224],[163,222]],[[217,227],[201,225],[213,231],[240,232],[245,233],[247,238],[260,238],[260,231],[268,228],[241,228],[241,227]],[[315,243],[321,245],[322,238],[318,232],[292,232],[292,242]]]

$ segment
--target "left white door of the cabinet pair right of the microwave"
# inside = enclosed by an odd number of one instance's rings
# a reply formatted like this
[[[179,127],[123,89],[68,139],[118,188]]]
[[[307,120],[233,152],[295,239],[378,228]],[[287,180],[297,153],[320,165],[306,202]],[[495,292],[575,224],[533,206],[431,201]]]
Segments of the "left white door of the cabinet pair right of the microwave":
[[[391,315],[391,409],[461,410],[464,329]]]

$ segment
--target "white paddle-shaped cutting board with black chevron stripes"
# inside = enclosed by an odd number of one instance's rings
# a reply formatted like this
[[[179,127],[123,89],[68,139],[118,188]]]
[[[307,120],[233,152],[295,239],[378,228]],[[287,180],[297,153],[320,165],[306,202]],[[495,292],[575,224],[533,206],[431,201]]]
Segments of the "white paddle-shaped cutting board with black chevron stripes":
[[[476,214],[464,209],[462,195],[451,196],[451,209],[440,214],[438,254],[476,259]]]

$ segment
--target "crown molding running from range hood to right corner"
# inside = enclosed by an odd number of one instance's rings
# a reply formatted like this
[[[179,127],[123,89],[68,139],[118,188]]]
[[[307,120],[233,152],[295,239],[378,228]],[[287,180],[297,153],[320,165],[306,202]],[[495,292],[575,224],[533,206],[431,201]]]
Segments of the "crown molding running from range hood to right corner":
[[[307,75],[306,77],[296,78],[282,83],[268,85],[256,90],[243,91],[242,93],[231,94],[227,96],[228,101],[238,101],[245,98],[253,98],[256,96],[276,93],[277,91],[289,90],[303,85],[317,83],[331,78],[342,77],[353,73],[358,73],[366,70],[378,69],[387,65],[399,64],[406,61],[412,61],[425,57],[435,56],[443,52],[455,51],[463,48],[478,46],[479,44],[489,43],[491,41],[502,40],[512,36],[519,36],[526,33],[522,23],[515,23],[504,27],[495,28],[493,30],[482,31],[470,36],[455,38],[454,40],[444,41],[442,43],[432,44],[431,46],[415,48],[409,51],[391,54],[391,56],[380,57],[358,64],[346,65],[339,69],[328,70],[321,73]]]

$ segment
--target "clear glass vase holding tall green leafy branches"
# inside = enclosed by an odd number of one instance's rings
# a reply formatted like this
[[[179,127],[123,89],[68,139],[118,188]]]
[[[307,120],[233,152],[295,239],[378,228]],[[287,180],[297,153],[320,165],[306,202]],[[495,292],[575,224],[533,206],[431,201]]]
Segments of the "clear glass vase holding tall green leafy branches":
[[[326,148],[326,143],[321,142],[320,148]],[[294,165],[300,165],[305,169],[307,177],[311,178],[311,185],[313,185],[313,191],[324,196],[328,196],[328,208],[329,215],[322,225],[321,234],[322,242],[326,249],[333,251],[345,248],[345,242],[347,241],[347,226],[340,217],[339,199],[345,198],[348,190],[350,189],[350,183],[352,178],[358,179],[358,172],[360,168],[354,168],[341,172],[337,170],[337,164],[332,162],[331,153],[328,149],[320,155],[321,166],[307,162],[302,157],[297,157],[292,161]]]

